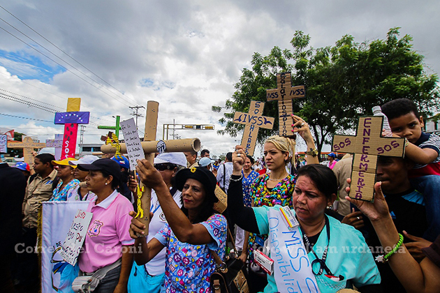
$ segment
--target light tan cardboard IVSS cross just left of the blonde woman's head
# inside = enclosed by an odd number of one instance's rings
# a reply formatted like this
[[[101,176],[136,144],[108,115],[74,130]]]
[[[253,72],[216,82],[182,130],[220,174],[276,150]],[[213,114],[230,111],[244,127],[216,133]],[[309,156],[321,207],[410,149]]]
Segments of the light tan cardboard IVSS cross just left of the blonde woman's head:
[[[261,116],[263,114],[264,102],[251,100],[249,113],[235,112],[234,123],[244,124],[244,133],[242,137],[242,147],[249,156],[254,156],[256,139],[260,128],[272,129],[274,127],[274,118]]]

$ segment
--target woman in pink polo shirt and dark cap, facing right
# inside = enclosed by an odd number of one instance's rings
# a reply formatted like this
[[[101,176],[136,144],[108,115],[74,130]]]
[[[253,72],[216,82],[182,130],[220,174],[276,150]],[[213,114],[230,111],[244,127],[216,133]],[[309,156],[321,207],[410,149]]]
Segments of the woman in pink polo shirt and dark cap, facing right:
[[[133,255],[129,235],[133,205],[117,192],[121,168],[114,160],[103,158],[91,164],[78,164],[86,176],[87,190],[96,195],[87,211],[93,213],[78,258],[82,275],[91,276],[94,292],[126,292]],[[99,281],[99,279],[101,281]],[[96,282],[95,282],[96,281]],[[74,282],[75,284],[75,282]]]

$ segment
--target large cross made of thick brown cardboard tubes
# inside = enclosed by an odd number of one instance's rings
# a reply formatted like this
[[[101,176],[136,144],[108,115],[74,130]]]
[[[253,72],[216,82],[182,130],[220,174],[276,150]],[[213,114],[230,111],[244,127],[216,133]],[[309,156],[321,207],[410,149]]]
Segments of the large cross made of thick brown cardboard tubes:
[[[200,140],[198,138],[186,139],[186,140],[160,140],[156,141],[156,128],[157,117],[159,113],[159,103],[149,100],[147,103],[147,114],[145,115],[145,135],[144,141],[141,142],[142,149],[145,152],[145,158],[154,165],[154,153],[156,152],[184,152],[184,151],[199,151]],[[126,144],[120,144],[121,153],[127,153]],[[104,144],[101,146],[103,153],[115,153],[116,147],[110,144]],[[139,220],[147,227],[145,234],[148,234],[149,225],[149,206],[151,200],[151,189],[146,186],[140,185],[142,195],[140,195],[140,208],[142,209],[143,216]],[[138,208],[139,209],[139,208]]]

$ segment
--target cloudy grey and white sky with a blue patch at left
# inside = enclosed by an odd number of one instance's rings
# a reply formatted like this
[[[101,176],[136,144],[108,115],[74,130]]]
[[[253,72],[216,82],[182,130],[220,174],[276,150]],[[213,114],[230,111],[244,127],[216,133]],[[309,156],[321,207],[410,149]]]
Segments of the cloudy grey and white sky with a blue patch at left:
[[[64,112],[69,97],[82,98],[81,111],[91,113],[85,143],[106,134],[96,126],[114,125],[116,115],[133,117],[129,107],[146,107],[147,100],[160,103],[158,138],[173,121],[222,129],[211,106],[224,106],[254,52],[290,48],[297,30],[311,36],[312,47],[323,47],[347,33],[362,42],[402,27],[401,36],[413,36],[425,56],[427,73],[440,72],[440,1],[6,0],[0,6],[0,128],[42,142],[63,132],[53,113]],[[144,123],[140,117],[140,130]],[[199,137],[217,155],[241,139],[215,130],[176,134]]]

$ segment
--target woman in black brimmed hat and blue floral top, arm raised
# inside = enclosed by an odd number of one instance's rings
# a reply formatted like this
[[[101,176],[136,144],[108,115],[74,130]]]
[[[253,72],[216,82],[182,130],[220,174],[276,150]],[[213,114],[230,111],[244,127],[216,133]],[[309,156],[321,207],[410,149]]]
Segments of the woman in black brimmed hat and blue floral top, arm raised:
[[[154,189],[168,223],[148,243],[145,225],[131,220],[130,235],[135,239],[135,261],[145,264],[167,248],[166,277],[161,292],[209,292],[209,277],[215,269],[211,250],[221,259],[226,247],[226,218],[214,212],[217,197],[216,178],[204,167],[193,167],[177,172],[176,187],[182,190],[182,209],[177,206],[161,174],[147,161],[136,167],[142,183]],[[131,213],[134,216],[134,212]]]

